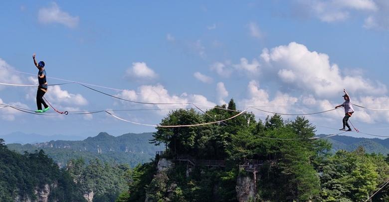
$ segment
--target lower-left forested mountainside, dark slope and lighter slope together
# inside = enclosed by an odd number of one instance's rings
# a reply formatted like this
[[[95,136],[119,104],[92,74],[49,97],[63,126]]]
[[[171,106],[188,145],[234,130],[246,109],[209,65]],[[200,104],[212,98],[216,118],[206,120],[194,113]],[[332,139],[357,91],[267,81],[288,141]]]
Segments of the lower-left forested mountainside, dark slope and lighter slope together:
[[[114,202],[126,189],[128,165],[70,160],[60,169],[43,150],[23,155],[0,139],[0,202]]]

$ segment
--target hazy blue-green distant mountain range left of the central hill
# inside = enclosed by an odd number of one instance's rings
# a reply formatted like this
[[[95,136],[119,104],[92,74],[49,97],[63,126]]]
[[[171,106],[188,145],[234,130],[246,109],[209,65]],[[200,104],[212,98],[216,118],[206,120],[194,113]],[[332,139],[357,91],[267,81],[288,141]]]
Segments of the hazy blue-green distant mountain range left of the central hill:
[[[152,133],[124,134],[118,137],[100,133],[82,141],[49,141],[37,144],[9,144],[10,150],[23,153],[43,149],[45,153],[65,166],[70,159],[83,158],[86,162],[99,159],[103,162],[129,164],[131,167],[145,163],[154,158],[155,152],[163,150],[163,146],[149,144]],[[6,140],[5,140],[6,141]]]

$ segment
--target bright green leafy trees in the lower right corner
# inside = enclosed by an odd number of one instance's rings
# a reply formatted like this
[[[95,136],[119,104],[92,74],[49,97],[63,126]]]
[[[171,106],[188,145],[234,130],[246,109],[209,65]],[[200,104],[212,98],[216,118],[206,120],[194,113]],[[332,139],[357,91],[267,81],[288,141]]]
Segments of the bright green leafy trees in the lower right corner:
[[[354,152],[338,151],[323,169],[323,201],[363,201],[388,178],[388,172],[382,155],[366,154],[363,148]]]

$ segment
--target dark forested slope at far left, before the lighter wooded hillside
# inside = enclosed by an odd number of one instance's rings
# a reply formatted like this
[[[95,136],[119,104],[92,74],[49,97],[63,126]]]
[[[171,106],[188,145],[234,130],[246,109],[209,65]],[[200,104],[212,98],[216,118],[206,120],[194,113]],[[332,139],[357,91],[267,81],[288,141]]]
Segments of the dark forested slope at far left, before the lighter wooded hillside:
[[[47,186],[50,201],[85,201],[69,173],[60,170],[43,150],[20,155],[1,147],[0,201],[35,200],[35,191]]]

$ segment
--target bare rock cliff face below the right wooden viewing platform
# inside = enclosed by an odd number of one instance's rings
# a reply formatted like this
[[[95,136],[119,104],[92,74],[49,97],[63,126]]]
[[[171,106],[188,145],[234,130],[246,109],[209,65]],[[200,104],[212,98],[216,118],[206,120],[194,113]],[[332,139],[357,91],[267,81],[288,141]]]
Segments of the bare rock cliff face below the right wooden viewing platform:
[[[255,181],[250,176],[239,176],[235,190],[239,202],[255,201]]]

